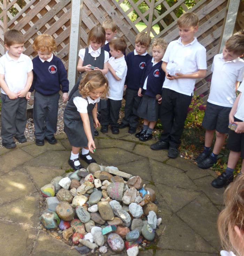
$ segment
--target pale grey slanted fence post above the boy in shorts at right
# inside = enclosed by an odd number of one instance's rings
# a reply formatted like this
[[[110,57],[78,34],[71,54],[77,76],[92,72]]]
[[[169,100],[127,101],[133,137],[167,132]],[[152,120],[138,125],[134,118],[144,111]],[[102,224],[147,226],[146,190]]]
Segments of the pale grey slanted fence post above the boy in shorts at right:
[[[222,36],[220,38],[219,53],[223,51],[224,44],[226,43],[227,39],[233,35],[239,3],[240,0],[228,0],[226,7],[227,13],[224,19]]]

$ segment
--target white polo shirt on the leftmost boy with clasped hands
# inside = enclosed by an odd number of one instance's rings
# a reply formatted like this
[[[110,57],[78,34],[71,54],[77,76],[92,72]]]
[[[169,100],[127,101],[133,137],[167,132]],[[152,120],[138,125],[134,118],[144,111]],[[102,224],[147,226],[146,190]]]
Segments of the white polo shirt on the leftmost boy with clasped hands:
[[[23,90],[27,81],[27,73],[31,72],[33,64],[29,56],[21,53],[18,60],[13,60],[8,51],[0,58],[0,74],[11,92]],[[1,88],[1,93],[6,94]]]

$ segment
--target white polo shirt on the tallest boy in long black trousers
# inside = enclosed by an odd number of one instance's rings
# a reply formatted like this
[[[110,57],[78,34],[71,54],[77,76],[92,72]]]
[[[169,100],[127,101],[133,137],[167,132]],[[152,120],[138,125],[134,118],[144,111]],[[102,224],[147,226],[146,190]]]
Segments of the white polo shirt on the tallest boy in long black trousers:
[[[197,38],[187,44],[183,45],[181,38],[176,41],[169,43],[163,61],[169,63],[174,61],[178,63],[182,74],[195,73],[198,70],[206,70],[206,49],[203,45],[198,43]],[[177,93],[185,95],[192,95],[195,87],[196,79],[192,78],[181,78],[169,80],[165,77],[163,88],[174,90]]]

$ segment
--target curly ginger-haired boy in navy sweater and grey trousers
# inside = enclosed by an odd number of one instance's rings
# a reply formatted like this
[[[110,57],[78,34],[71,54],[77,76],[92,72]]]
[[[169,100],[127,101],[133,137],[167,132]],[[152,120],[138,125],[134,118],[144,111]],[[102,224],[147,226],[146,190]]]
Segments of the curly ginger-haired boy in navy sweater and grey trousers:
[[[38,56],[33,62],[33,83],[28,97],[35,90],[33,121],[35,125],[36,145],[43,146],[44,139],[50,144],[57,143],[54,133],[57,131],[59,91],[63,92],[63,102],[68,100],[69,81],[62,61],[53,55],[56,42],[52,36],[39,35],[33,42]]]

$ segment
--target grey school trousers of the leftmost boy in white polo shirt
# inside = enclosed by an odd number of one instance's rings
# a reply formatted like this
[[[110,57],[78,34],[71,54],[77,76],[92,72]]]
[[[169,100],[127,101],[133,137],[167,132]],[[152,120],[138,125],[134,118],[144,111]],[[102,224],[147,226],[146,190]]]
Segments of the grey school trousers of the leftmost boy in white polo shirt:
[[[26,107],[25,97],[10,100],[1,93],[2,100],[2,128],[1,136],[3,143],[13,142],[13,137],[24,136],[26,126]]]

